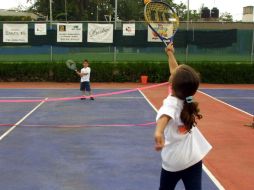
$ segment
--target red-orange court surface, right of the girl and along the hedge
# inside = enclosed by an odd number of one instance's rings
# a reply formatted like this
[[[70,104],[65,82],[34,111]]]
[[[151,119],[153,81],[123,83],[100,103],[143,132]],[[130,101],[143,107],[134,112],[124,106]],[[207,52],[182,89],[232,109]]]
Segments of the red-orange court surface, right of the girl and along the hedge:
[[[92,83],[92,88],[139,88],[152,84],[139,83]],[[254,85],[212,85],[201,88],[254,89]],[[79,88],[79,83],[0,83],[0,88]],[[147,99],[159,108],[167,96],[167,86],[142,91]],[[225,189],[254,189],[254,129],[245,126],[253,116],[234,109],[216,99],[198,92],[203,119],[199,129],[212,144],[213,149],[204,164]],[[152,139],[151,139],[152,140]]]

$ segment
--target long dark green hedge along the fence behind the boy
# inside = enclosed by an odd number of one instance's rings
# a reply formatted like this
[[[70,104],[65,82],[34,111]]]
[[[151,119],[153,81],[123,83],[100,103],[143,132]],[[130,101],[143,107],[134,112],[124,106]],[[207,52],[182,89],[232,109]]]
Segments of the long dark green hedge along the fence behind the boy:
[[[189,63],[201,75],[204,83],[253,84],[254,65],[241,63]],[[148,75],[149,82],[164,82],[169,78],[166,62],[91,62],[92,82],[139,82]],[[81,68],[81,64],[78,64]],[[77,82],[79,77],[65,63],[0,63],[0,81]]]

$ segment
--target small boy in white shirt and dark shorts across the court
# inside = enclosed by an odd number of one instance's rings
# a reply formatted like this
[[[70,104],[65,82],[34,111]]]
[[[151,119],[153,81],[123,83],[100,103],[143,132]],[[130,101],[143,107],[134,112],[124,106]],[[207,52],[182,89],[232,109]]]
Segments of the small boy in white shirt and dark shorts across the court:
[[[80,72],[76,70],[76,73],[80,76],[80,91],[82,91],[82,94],[84,98],[81,98],[81,100],[85,100],[86,92],[88,92],[90,96],[90,100],[94,100],[92,97],[91,87],[90,87],[90,73],[91,68],[89,67],[88,60],[84,60],[83,62],[83,68]]]

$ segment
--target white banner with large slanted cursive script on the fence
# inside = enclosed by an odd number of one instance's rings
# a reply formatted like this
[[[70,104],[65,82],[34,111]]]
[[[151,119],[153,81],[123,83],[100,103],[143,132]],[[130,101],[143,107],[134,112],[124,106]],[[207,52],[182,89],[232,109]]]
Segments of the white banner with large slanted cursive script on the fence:
[[[113,43],[113,24],[88,23],[87,42]]]

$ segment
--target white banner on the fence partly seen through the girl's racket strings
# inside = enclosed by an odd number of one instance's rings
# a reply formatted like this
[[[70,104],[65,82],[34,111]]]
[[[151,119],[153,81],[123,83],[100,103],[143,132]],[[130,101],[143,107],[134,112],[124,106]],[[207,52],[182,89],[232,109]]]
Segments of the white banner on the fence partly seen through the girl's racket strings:
[[[173,33],[173,25],[172,24],[159,24],[152,23],[151,26],[164,38],[169,38]],[[160,38],[157,36],[155,32],[148,26],[148,42],[161,42]]]

